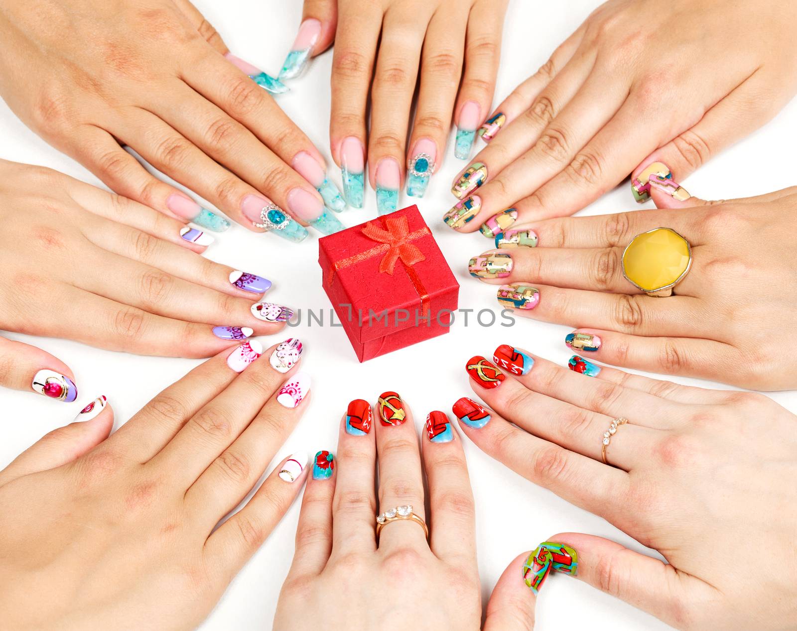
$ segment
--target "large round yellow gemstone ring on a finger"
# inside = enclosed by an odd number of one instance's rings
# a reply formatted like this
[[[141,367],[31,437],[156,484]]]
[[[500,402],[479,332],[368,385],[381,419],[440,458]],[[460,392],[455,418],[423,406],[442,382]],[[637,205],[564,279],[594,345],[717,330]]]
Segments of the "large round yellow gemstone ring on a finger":
[[[622,275],[648,296],[671,296],[691,265],[689,241],[669,228],[638,234],[622,252]]]

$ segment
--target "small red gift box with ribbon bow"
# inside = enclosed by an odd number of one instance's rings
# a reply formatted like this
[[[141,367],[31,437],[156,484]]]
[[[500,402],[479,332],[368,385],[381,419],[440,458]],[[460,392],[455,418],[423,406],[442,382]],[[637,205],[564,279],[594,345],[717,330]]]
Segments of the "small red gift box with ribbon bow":
[[[418,206],[318,243],[324,291],[360,362],[449,331],[459,284]]]

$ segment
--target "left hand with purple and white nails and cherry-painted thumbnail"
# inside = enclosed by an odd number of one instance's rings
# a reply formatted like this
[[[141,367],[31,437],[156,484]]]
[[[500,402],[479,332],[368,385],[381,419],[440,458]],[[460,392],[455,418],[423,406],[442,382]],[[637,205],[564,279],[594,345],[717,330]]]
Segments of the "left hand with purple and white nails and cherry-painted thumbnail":
[[[270,280],[200,257],[208,235],[53,170],[0,161],[0,225],[5,331],[208,357],[292,315],[262,300]],[[0,366],[2,386],[77,397],[68,366],[27,344],[0,338]]]

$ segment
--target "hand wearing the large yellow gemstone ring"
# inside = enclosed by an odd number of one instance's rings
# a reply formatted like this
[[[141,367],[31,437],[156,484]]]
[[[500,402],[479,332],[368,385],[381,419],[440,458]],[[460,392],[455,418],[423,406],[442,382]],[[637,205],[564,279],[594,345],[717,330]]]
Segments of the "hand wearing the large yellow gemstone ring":
[[[671,179],[650,182],[658,206],[671,210],[519,226],[496,238],[499,250],[472,259],[471,272],[503,283],[498,301],[516,314],[579,327],[567,345],[602,362],[756,390],[797,388],[797,359],[783,353],[797,319],[797,188],[704,202]],[[623,276],[626,245],[660,227],[685,237],[693,261],[666,298]]]

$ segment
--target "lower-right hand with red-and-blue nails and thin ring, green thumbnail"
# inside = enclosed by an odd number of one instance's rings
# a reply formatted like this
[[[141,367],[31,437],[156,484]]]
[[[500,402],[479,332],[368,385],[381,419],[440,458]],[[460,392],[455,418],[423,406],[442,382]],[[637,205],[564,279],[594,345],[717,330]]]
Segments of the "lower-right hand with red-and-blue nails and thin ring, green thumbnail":
[[[554,535],[579,578],[679,629],[795,628],[797,417],[760,394],[597,366],[591,378],[506,345],[493,361],[468,363],[490,410],[457,401],[465,434],[667,560]]]

